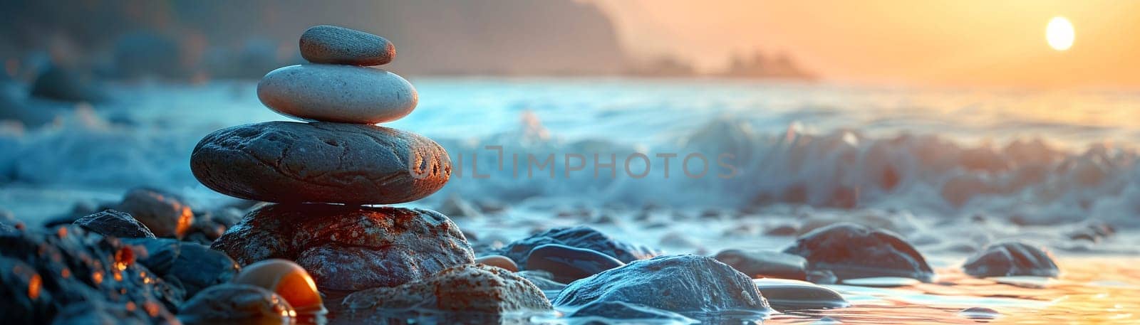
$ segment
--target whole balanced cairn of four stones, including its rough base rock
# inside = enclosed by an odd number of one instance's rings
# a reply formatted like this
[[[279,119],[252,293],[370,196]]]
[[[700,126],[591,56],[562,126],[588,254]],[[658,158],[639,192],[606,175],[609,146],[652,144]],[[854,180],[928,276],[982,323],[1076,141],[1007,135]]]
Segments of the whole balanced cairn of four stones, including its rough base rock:
[[[258,98],[303,122],[218,130],[194,149],[195,177],[220,193],[266,201],[212,244],[245,266],[296,261],[326,294],[397,286],[474,262],[446,216],[378,207],[414,201],[447,183],[447,151],[421,135],[376,126],[415,108],[416,90],[369,66],[392,61],[388,40],[315,26],[301,36],[310,64],[270,72]]]

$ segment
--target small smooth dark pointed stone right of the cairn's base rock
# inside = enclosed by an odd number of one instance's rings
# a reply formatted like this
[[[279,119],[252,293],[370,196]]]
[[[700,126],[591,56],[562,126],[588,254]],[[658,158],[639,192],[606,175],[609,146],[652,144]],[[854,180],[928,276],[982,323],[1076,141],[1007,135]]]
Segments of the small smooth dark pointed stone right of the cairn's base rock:
[[[604,253],[561,244],[544,244],[530,251],[527,269],[549,272],[552,280],[571,283],[626,265]]]

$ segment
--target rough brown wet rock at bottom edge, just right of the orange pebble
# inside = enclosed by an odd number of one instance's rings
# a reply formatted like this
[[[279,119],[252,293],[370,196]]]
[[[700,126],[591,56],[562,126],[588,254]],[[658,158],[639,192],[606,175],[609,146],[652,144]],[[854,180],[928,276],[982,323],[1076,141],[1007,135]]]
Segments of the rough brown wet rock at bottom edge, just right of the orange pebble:
[[[384,310],[503,314],[549,310],[551,303],[543,291],[508,270],[461,265],[399,286],[358,291],[345,297],[342,307],[345,310],[337,317],[367,319]]]

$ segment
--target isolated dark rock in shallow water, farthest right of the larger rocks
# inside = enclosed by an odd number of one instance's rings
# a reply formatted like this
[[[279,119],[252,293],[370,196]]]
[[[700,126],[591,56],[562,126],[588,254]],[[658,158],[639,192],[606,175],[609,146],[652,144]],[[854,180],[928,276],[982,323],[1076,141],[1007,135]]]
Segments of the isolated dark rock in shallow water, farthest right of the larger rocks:
[[[972,276],[1032,275],[1057,277],[1059,269],[1044,250],[1021,243],[1005,242],[987,247],[962,266]]]

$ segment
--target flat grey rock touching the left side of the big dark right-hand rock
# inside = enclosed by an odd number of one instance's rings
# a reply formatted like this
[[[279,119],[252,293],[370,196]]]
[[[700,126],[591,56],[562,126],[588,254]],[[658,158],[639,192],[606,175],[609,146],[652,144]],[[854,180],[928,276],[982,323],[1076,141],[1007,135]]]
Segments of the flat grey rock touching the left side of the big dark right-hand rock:
[[[796,255],[730,249],[716,259],[751,277],[807,280],[807,260]]]

